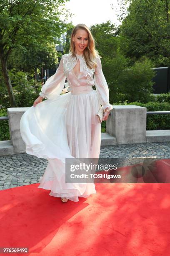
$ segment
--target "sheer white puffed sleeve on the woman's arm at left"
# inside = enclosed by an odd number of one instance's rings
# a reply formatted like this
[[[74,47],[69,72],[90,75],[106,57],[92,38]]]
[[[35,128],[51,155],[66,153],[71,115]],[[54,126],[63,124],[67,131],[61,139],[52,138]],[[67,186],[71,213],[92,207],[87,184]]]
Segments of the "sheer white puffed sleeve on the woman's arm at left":
[[[45,99],[52,99],[60,95],[65,84],[65,74],[63,70],[63,56],[55,74],[47,79],[41,88],[39,95]]]

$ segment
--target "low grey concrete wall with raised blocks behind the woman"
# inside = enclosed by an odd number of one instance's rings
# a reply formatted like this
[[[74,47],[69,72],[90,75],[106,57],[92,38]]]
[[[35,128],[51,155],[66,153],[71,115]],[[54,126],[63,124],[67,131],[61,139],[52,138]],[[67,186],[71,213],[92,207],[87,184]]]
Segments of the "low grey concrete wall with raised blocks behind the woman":
[[[29,108],[8,108],[10,141],[0,141],[0,156],[25,153],[20,134],[20,119]],[[146,108],[135,105],[115,105],[106,121],[101,146],[127,143],[170,141],[170,131],[146,131]]]

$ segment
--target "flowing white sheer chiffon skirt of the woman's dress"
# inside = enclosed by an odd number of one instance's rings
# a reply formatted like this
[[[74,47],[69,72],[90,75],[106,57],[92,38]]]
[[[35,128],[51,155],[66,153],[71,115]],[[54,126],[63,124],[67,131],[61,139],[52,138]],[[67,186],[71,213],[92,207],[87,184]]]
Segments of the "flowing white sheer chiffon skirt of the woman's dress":
[[[26,153],[48,161],[38,188],[75,202],[78,197],[95,195],[95,184],[65,183],[65,158],[98,158],[101,142],[96,91],[90,86],[76,91],[32,106],[20,120]]]

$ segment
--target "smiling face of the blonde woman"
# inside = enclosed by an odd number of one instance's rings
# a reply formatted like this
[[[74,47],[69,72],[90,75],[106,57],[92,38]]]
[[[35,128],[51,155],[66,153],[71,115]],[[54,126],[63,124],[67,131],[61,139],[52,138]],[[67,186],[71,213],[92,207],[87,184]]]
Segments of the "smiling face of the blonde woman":
[[[82,54],[88,44],[88,33],[84,29],[78,29],[72,37],[72,41],[75,44],[75,51],[77,54]]]

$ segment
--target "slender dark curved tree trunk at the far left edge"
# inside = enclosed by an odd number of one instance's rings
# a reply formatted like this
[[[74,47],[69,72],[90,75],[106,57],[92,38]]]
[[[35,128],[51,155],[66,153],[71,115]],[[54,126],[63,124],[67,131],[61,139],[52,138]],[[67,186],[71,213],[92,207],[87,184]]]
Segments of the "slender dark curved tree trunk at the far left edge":
[[[0,54],[0,61],[1,61],[1,66],[2,66],[2,75],[3,75],[4,81],[7,86],[8,93],[9,93],[9,97],[10,97],[10,105],[11,105],[11,107],[15,108],[15,107],[17,107],[17,104],[15,101],[13,87],[12,87],[12,84],[10,81],[10,77],[7,72],[7,61],[5,60],[5,58],[3,58],[2,54]]]

